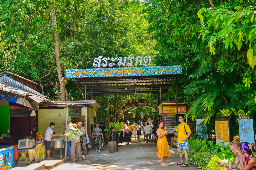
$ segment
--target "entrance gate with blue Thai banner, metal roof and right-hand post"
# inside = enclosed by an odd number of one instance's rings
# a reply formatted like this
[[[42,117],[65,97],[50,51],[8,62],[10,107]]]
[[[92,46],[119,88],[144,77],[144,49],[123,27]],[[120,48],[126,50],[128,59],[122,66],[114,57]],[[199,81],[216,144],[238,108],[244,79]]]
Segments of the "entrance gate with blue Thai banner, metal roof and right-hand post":
[[[178,82],[181,65],[123,68],[68,69],[66,78],[73,80],[85,91],[85,100],[90,95],[158,94],[158,104],[163,94],[176,81],[176,117],[178,120]],[[177,121],[178,124],[178,121]]]

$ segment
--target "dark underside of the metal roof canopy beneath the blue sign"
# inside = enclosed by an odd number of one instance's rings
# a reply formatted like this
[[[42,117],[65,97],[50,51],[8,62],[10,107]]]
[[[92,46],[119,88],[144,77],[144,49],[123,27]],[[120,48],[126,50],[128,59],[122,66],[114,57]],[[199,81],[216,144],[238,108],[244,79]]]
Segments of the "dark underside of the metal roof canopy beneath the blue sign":
[[[177,74],[73,78],[86,95],[167,93]],[[86,84],[86,88],[85,88]],[[88,92],[89,91],[89,92]],[[92,100],[92,99],[91,99]]]

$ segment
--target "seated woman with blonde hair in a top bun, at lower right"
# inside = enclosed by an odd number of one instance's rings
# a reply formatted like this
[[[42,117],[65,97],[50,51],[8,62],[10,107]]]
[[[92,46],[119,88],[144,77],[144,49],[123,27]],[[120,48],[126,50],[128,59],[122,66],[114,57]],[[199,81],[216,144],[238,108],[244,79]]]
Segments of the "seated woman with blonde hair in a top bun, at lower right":
[[[234,136],[234,140],[229,144],[229,147],[230,147],[231,151],[236,155],[236,161],[234,162],[234,164],[241,166],[241,163],[243,163],[245,156],[242,155],[243,160],[241,161],[240,157],[238,155],[239,146],[241,144],[239,141],[240,141],[240,137],[238,135]],[[218,166],[218,167],[226,167],[226,170],[229,170],[228,164],[217,162],[216,166]],[[233,170],[235,170],[235,169],[233,169]]]

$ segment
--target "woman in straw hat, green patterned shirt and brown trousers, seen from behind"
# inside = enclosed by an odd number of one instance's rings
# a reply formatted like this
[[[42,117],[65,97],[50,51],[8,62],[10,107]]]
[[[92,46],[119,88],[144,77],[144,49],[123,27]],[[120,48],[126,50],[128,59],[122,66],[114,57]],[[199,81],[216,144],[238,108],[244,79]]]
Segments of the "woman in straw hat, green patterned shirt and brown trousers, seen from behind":
[[[76,154],[76,157],[79,156],[79,161],[81,162],[82,161],[81,144],[80,144],[80,142],[75,143],[73,139],[74,139],[74,136],[76,134],[81,136],[83,133],[77,128],[76,124],[70,123],[69,128],[71,129],[70,132],[68,132],[67,134],[61,134],[61,136],[67,136],[67,137],[71,138],[71,159],[72,159],[72,162],[75,162],[75,154]]]

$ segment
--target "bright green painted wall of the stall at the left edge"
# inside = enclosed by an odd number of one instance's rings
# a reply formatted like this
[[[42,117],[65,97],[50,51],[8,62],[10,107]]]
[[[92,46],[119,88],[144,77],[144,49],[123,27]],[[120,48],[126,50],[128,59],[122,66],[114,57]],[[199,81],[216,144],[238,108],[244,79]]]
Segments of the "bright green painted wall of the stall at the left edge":
[[[9,105],[0,106],[0,120],[1,120],[1,128],[0,128],[0,135],[2,134],[9,134],[6,133],[7,128],[11,128],[10,126],[10,113],[9,113]]]

